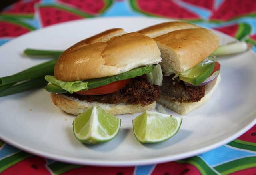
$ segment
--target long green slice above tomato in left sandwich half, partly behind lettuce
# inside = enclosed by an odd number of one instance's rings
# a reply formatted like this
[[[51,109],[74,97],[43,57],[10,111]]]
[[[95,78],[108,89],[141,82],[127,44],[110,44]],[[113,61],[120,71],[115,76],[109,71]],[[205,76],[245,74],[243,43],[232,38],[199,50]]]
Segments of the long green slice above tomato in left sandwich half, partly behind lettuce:
[[[102,77],[102,78],[96,78],[96,79],[90,79],[90,80],[84,80],[83,82],[87,82],[87,88],[84,90],[88,89],[93,89],[99,86],[104,86],[107,84],[110,84],[112,82],[116,82],[119,80],[125,80],[128,78],[134,78],[137,76],[142,76],[144,74],[147,74],[151,72],[153,69],[153,65],[151,66],[143,66],[139,68],[134,68],[128,72],[124,72],[115,76],[110,76],[110,77]],[[60,80],[59,80],[60,81]],[[79,84],[79,83],[78,83]],[[45,86],[46,91],[52,92],[52,93],[68,93],[68,91],[62,89],[60,86],[57,86],[55,84],[48,84]],[[71,89],[72,90],[72,89]]]

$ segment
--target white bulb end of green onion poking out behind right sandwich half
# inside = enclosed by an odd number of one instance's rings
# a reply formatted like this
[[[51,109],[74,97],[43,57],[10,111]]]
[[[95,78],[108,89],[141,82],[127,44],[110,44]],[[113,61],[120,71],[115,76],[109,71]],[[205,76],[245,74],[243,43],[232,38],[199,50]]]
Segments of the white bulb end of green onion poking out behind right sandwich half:
[[[245,52],[246,50],[250,50],[251,46],[250,44],[247,44],[244,41],[240,42],[232,42],[229,44],[225,44],[222,46],[219,46],[212,55],[214,56],[226,56],[231,54],[239,54],[242,52]]]

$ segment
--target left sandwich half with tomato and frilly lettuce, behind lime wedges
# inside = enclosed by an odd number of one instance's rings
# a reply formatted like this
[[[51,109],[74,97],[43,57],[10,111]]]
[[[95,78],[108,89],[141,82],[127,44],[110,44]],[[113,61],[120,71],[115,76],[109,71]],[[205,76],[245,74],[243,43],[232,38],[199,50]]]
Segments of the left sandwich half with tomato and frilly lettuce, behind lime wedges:
[[[143,75],[161,62],[160,50],[150,37],[116,31],[78,42],[58,58],[45,88],[61,110],[77,115],[96,105],[119,115],[154,109],[160,86]]]

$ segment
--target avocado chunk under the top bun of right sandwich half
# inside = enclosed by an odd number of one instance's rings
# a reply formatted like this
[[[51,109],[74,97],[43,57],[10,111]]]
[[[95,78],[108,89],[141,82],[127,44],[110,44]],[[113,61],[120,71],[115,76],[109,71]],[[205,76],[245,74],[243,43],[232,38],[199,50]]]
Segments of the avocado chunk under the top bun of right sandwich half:
[[[182,72],[179,78],[184,82],[188,82],[194,86],[198,86],[212,74],[214,70],[214,65],[215,62],[213,60],[201,62],[193,68]]]

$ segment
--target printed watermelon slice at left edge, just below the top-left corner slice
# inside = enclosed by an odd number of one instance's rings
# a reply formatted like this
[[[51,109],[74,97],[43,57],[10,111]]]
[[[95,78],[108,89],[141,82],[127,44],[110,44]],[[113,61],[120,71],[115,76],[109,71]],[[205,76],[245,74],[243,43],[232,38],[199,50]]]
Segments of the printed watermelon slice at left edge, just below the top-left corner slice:
[[[35,30],[35,28],[18,20],[11,18],[0,19],[0,37],[16,37],[31,30]]]

